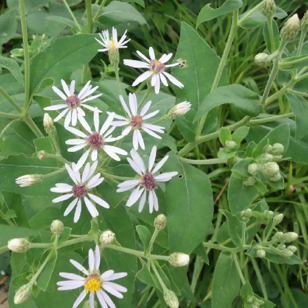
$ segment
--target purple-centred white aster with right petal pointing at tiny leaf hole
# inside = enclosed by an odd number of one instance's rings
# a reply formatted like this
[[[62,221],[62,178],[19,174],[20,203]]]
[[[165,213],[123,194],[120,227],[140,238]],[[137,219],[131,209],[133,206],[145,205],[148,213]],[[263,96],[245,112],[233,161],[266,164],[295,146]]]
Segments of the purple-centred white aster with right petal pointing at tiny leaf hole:
[[[172,176],[176,176],[178,172],[176,171],[164,172],[159,175],[155,175],[155,173],[158,172],[158,170],[163,166],[163,164],[166,162],[166,160],[169,157],[168,155],[166,155],[153,168],[154,163],[155,163],[155,158],[156,158],[156,146],[152,148],[152,151],[150,153],[148,169],[145,168],[142,158],[136,152],[135,149],[131,150],[131,156],[132,158],[130,157],[127,158],[128,163],[138,173],[139,176],[135,180],[128,180],[128,181],[124,181],[118,184],[117,193],[127,191],[138,185],[138,187],[132,191],[132,194],[130,195],[130,197],[128,198],[128,201],[126,202],[126,206],[130,207],[133,204],[135,204],[136,201],[142,195],[140,202],[139,202],[139,209],[138,209],[140,213],[142,209],[144,208],[145,200],[147,198],[147,193],[149,193],[148,202],[149,202],[150,213],[153,212],[153,208],[156,211],[158,211],[158,200],[157,200],[157,196],[155,193],[155,189],[157,188],[156,182],[167,182],[171,180]]]

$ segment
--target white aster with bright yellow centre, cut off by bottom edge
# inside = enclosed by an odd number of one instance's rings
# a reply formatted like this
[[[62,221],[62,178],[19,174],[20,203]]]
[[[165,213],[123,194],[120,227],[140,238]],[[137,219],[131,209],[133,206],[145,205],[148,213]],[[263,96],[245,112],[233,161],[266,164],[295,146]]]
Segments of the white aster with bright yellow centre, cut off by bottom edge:
[[[73,273],[59,273],[59,276],[68,280],[57,282],[57,285],[59,286],[58,290],[62,291],[74,290],[80,287],[84,288],[76,299],[73,308],[76,308],[83,301],[87,293],[90,293],[89,304],[91,308],[94,308],[95,294],[102,308],[115,308],[114,302],[112,302],[107,293],[110,293],[117,298],[123,298],[122,293],[127,292],[127,288],[112,282],[116,279],[127,276],[127,273],[115,273],[113,270],[107,270],[103,274],[100,274],[100,253],[98,245],[95,246],[95,252],[93,252],[92,249],[89,250],[89,270],[86,270],[83,265],[75,260],[71,259],[70,262],[77,270],[80,270],[84,275],[86,275],[86,277],[84,277]]]

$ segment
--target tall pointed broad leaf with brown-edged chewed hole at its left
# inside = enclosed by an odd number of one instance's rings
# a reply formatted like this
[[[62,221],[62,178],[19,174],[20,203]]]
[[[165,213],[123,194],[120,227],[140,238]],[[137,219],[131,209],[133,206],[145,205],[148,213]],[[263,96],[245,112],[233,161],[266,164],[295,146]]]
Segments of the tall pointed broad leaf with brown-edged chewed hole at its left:
[[[176,125],[187,141],[193,141],[197,125],[193,124],[193,119],[205,95],[211,90],[220,58],[186,22],[181,23],[180,42],[174,59],[179,58],[186,60],[188,67],[181,68],[178,65],[172,68],[172,75],[184,84],[183,89],[174,87],[176,102],[186,100],[192,104],[192,107],[185,115],[176,118]],[[225,84],[227,84],[227,76],[224,70],[220,85]]]

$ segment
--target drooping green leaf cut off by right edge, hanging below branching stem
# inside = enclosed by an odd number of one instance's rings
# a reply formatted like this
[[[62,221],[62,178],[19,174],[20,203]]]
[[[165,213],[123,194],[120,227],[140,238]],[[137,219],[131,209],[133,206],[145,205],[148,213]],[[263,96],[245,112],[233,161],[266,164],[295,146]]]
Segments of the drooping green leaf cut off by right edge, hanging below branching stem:
[[[307,134],[308,103],[302,96],[286,93],[290,107],[295,115],[295,140],[301,140]]]

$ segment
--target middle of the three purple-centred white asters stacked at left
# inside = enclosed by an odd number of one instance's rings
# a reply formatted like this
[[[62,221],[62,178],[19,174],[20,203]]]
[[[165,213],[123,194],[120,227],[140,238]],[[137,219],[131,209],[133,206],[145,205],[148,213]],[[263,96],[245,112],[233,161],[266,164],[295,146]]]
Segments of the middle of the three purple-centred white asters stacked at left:
[[[95,110],[94,110],[95,131],[94,132],[92,132],[87,121],[84,120],[83,117],[81,117],[79,121],[81,125],[87,130],[87,132],[89,132],[89,135],[86,135],[84,132],[79,131],[76,128],[66,127],[66,129],[69,132],[83,138],[83,139],[69,139],[65,141],[66,144],[74,145],[73,147],[68,148],[67,150],[68,152],[76,152],[86,146],[90,146],[90,148],[86,152],[84,152],[83,155],[79,158],[74,171],[78,171],[81,168],[81,166],[87,160],[87,157],[89,156],[89,153],[91,151],[92,151],[91,159],[93,161],[97,160],[98,151],[101,151],[101,150],[105,151],[111,158],[113,158],[114,160],[118,160],[118,161],[120,161],[120,157],[117,154],[127,155],[127,152],[120,148],[117,148],[112,145],[106,145],[107,142],[112,142],[112,141],[123,138],[122,135],[119,137],[111,137],[111,133],[114,131],[115,126],[112,126],[109,130],[107,130],[109,126],[111,125],[114,115],[115,115],[114,113],[111,113],[108,116],[105,123],[103,124],[102,128],[99,130],[99,110],[95,107]]]

